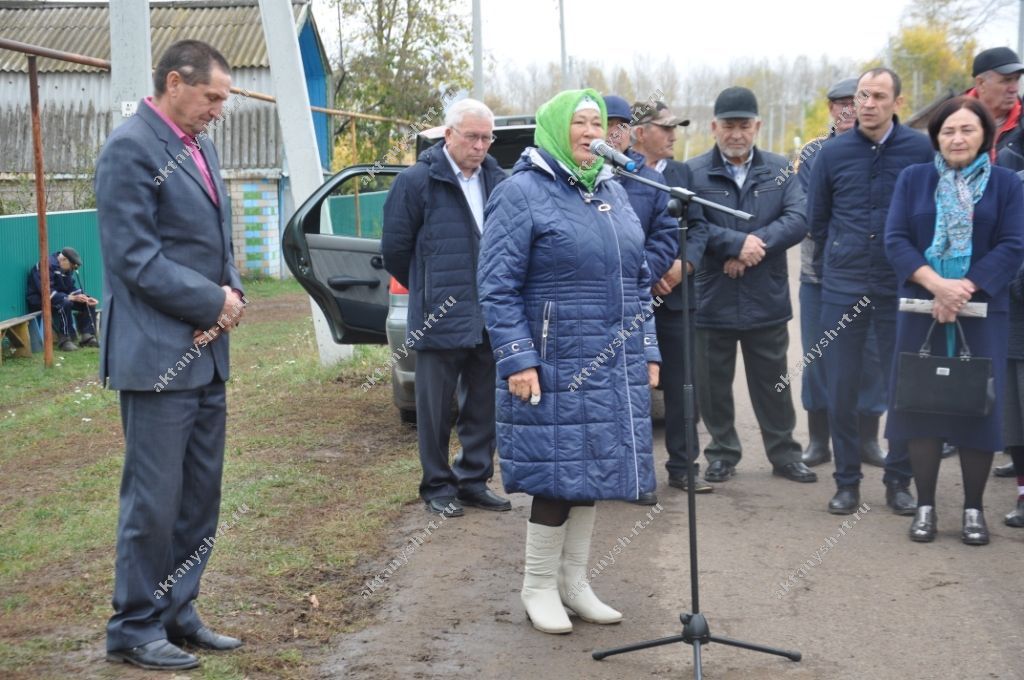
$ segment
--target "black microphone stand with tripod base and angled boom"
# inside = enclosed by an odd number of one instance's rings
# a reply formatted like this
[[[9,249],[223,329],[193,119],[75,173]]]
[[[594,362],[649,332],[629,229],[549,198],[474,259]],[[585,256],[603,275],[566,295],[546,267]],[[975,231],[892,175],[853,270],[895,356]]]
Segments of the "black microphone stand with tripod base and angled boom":
[[[648,186],[653,186],[654,188],[666,192],[672,199],[669,201],[669,214],[676,217],[679,220],[679,252],[680,257],[683,261],[683,281],[680,284],[682,286],[682,296],[683,296],[683,409],[685,413],[684,425],[686,427],[686,457],[688,461],[687,471],[686,471],[686,503],[688,508],[687,523],[689,528],[690,538],[690,599],[693,611],[683,612],[679,614],[679,621],[683,624],[683,632],[679,635],[673,635],[670,637],[658,638],[655,640],[647,640],[644,642],[637,642],[634,644],[629,644],[623,647],[615,647],[613,649],[606,649],[603,651],[595,651],[592,656],[601,661],[607,656],[612,656],[614,654],[623,654],[629,651],[638,651],[640,649],[647,649],[649,647],[659,647],[665,644],[672,644],[674,642],[683,642],[693,646],[693,677],[696,680],[701,680],[703,678],[703,670],[700,665],[700,646],[710,644],[712,642],[718,642],[720,644],[725,644],[733,647],[740,647],[742,649],[751,649],[753,651],[760,651],[766,654],[775,654],[777,656],[785,656],[790,661],[799,662],[801,660],[801,653],[799,651],[786,651],[784,649],[777,649],[775,647],[767,647],[760,644],[754,644],[751,642],[743,642],[741,640],[733,640],[731,638],[719,637],[717,635],[711,634],[711,629],[708,626],[708,620],[702,613],[700,613],[700,598],[699,598],[699,588],[698,588],[698,576],[697,576],[697,526],[696,526],[696,500],[693,495],[693,461],[697,457],[696,441],[691,436],[693,432],[696,431],[696,417],[693,401],[693,376],[692,376],[692,366],[690,365],[690,310],[689,310],[689,291],[687,280],[687,273],[685,270],[686,266],[686,231],[689,228],[687,224],[687,209],[689,208],[690,202],[697,203],[711,210],[717,210],[719,212],[724,212],[739,219],[749,220],[753,215],[743,212],[741,210],[735,210],[718,203],[713,203],[705,199],[699,198],[693,192],[689,189],[681,188],[679,186],[667,186],[665,184],[652,181],[645,177],[640,177],[631,172],[623,170],[621,167],[614,168],[614,173],[623,177],[629,177],[634,181],[647,184]]]

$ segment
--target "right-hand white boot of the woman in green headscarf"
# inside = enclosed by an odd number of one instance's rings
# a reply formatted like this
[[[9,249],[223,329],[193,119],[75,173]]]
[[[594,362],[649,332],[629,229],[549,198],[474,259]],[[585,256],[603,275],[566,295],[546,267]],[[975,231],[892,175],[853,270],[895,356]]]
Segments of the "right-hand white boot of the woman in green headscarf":
[[[623,614],[597,599],[587,579],[590,539],[594,534],[594,506],[577,506],[565,521],[565,544],[558,571],[558,594],[562,604],[592,624],[617,624]]]

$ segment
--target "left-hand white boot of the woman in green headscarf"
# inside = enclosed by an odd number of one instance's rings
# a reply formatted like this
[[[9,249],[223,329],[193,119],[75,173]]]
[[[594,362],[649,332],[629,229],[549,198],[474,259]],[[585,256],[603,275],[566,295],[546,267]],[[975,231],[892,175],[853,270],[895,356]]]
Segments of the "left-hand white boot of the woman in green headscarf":
[[[572,632],[572,624],[558,597],[558,562],[564,540],[565,524],[546,526],[526,522],[526,568],[520,597],[534,628],[543,633]]]

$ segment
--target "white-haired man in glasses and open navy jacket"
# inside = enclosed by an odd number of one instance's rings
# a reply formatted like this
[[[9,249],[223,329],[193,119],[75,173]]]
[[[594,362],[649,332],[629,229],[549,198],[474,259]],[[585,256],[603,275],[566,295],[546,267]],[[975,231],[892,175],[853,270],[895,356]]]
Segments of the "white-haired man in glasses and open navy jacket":
[[[391,185],[381,252],[384,266],[409,289],[406,344],[416,350],[420,497],[428,512],[459,517],[466,505],[512,509],[487,488],[494,475],[495,362],[476,289],[483,206],[506,175],[487,154],[495,117],[486,105],[457,101],[444,125],[443,143],[420,154]],[[462,452],[450,465],[456,392]]]

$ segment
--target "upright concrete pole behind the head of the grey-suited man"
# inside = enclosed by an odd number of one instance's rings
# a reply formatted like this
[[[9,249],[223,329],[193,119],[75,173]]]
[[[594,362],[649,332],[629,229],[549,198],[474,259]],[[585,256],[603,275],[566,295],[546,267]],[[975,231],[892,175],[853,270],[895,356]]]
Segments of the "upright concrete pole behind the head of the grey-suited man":
[[[153,92],[150,3],[111,0],[111,111],[117,127]]]

